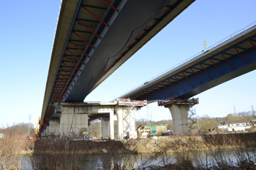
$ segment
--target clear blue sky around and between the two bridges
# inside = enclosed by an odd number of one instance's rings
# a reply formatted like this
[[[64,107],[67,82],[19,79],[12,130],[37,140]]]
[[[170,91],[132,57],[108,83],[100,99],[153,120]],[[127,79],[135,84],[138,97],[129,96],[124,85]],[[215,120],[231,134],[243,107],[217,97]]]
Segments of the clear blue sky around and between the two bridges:
[[[0,2],[0,123],[36,123],[59,16],[60,0]],[[252,23],[255,0],[197,0],[95,89],[85,101],[110,101]],[[199,95],[197,115],[225,117],[256,109],[256,71]],[[168,109],[149,104],[153,120],[170,117]],[[138,113],[145,117],[146,107]],[[140,116],[139,116],[140,117]],[[171,117],[170,117],[171,118]]]

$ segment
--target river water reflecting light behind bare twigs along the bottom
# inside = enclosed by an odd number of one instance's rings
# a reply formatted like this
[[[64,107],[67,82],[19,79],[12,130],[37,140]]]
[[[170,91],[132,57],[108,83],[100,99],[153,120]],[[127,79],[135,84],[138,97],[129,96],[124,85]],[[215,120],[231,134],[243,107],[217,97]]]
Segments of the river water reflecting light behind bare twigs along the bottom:
[[[239,159],[250,158],[254,163],[256,161],[256,148],[253,147],[249,152],[211,152],[206,154],[202,151],[196,156],[189,155],[193,166],[197,167],[198,163],[201,165],[213,166],[217,165],[217,162],[227,163],[228,165],[236,166]],[[243,155],[244,154],[244,155]],[[186,156],[184,156],[185,158]],[[151,154],[116,154],[116,155],[84,155],[83,161],[80,162],[80,170],[82,169],[114,169],[115,165],[122,167],[123,169],[151,169],[151,166],[163,166],[167,163],[176,163],[182,156],[175,154],[159,155]],[[23,169],[30,170],[29,156],[23,157]]]

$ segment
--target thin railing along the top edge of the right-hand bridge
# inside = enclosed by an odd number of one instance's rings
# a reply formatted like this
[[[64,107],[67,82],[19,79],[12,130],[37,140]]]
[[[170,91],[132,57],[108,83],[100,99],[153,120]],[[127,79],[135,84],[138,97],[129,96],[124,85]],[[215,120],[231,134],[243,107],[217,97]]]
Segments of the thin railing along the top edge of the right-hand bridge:
[[[152,77],[150,80],[143,82],[142,84],[136,86],[135,88],[132,88],[131,90],[127,91],[126,93],[123,93],[122,95],[116,97],[116,98],[122,98],[123,96],[127,95],[128,93],[132,92],[133,90],[136,90],[140,87],[142,87],[143,85],[148,84],[149,82],[156,80],[159,77],[162,77],[162,75],[167,74],[168,72],[173,72],[176,69],[180,68],[181,66],[183,66],[184,64],[194,60],[195,58],[199,58],[200,55],[203,55],[205,53],[208,53],[212,50],[215,50],[219,45],[222,45],[226,42],[230,42],[233,38],[236,38],[237,36],[240,36],[241,34],[245,34],[247,31],[251,30],[252,28],[254,28],[256,26],[256,20],[252,23],[250,23],[249,25],[245,26],[244,28],[239,29],[238,31],[234,32],[233,34],[230,34],[229,36],[226,36],[225,38],[221,39],[219,42],[214,43],[213,45],[211,45],[209,48],[201,50],[200,52],[196,53],[195,55],[192,55],[191,57],[187,58],[184,61],[181,61],[180,63],[176,64],[173,67],[170,67],[170,69],[165,70],[165,72],[162,72],[160,74],[157,74],[157,76]],[[114,98],[113,100],[116,100],[116,98]]]

